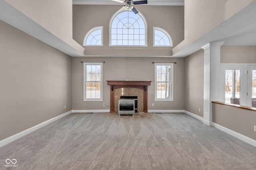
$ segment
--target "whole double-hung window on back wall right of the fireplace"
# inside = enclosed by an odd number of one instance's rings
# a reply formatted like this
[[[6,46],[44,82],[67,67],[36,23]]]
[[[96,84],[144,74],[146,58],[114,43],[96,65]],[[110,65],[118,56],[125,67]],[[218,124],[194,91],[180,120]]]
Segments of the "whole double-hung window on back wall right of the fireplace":
[[[173,101],[173,63],[155,63],[155,101]]]

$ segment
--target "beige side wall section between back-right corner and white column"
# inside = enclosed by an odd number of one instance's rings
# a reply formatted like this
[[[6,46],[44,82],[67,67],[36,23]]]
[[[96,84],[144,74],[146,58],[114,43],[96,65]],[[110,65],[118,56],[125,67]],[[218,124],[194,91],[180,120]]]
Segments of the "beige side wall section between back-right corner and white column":
[[[204,50],[185,58],[185,110],[204,117]],[[200,111],[199,111],[200,108]]]

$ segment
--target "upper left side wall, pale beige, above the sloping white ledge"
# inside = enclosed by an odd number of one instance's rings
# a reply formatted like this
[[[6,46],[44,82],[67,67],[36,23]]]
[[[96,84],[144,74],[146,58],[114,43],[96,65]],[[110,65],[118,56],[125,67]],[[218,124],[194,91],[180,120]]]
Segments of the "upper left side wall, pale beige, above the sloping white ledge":
[[[6,2],[74,49],[84,53],[83,48],[72,37],[72,0],[6,0]]]

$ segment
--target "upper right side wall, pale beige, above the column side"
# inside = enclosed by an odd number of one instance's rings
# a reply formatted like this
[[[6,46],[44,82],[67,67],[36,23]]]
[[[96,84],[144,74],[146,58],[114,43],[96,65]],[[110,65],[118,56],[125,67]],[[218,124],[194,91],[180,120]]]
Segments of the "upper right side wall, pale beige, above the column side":
[[[185,0],[184,41],[175,54],[190,45],[255,0]]]

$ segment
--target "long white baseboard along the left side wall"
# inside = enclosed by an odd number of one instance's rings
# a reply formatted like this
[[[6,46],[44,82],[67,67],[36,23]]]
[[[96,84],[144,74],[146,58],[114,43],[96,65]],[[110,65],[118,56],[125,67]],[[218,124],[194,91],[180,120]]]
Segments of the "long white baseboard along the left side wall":
[[[0,141],[0,147],[4,146],[4,145],[6,145],[6,144],[8,144],[8,143],[10,143],[10,142],[12,142],[12,141],[15,141],[16,139],[18,139],[18,138],[20,138],[20,137],[23,137],[23,136],[27,135],[28,133],[31,133],[31,132],[33,132],[33,131],[35,131],[35,130],[41,128],[41,127],[44,127],[45,125],[48,125],[49,123],[52,123],[53,121],[56,121],[56,120],[58,120],[58,119],[60,119],[60,118],[62,118],[62,117],[64,117],[64,116],[66,116],[66,115],[68,115],[68,114],[70,114],[70,113],[72,113],[72,110],[70,110],[70,111],[68,111],[68,112],[66,112],[66,113],[63,113],[63,114],[61,114],[61,115],[58,115],[58,116],[56,116],[56,117],[54,117],[54,118],[52,118],[52,119],[50,119],[50,120],[48,120],[48,121],[45,121],[45,122],[43,122],[43,123],[40,123],[40,124],[35,125],[35,126],[33,126],[33,127],[30,127],[29,129],[26,129],[26,130],[24,130],[24,131],[21,131],[20,133],[17,133],[17,134],[15,134],[15,135],[12,135],[12,136],[10,136],[10,137],[8,137],[8,138],[6,138],[6,139],[3,139],[2,141]]]

